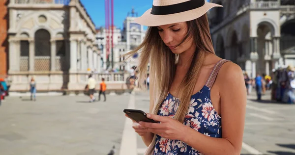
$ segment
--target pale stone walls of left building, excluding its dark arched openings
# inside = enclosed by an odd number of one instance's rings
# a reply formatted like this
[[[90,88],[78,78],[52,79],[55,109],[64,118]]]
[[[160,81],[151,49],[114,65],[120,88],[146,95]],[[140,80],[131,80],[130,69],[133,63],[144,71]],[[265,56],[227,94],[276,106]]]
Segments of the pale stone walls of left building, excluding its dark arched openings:
[[[92,70],[99,68],[95,26],[79,0],[71,0],[69,5],[43,4],[37,1],[14,3],[14,0],[11,0],[8,9],[10,34],[8,73],[13,78],[12,91],[27,89],[28,79],[31,77],[39,83],[39,90],[61,89],[64,83],[68,83],[68,88],[64,89],[77,88],[79,82],[86,82],[86,79],[79,79],[79,74],[88,74],[88,68]],[[42,72],[35,70],[35,33],[40,29],[49,32],[51,48],[48,59],[49,70]],[[29,42],[27,71],[20,71],[21,40]],[[65,57],[62,59],[56,56],[57,41],[63,41],[65,44]],[[42,45],[36,45],[38,46]],[[58,60],[63,61],[67,66],[66,69],[57,68]]]

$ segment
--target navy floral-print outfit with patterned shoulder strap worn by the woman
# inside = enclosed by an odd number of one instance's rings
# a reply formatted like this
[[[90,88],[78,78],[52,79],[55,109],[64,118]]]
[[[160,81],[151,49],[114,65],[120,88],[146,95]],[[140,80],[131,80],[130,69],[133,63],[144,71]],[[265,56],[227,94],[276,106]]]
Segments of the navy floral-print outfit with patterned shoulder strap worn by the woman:
[[[206,85],[191,96],[191,102],[184,119],[184,125],[209,137],[221,138],[221,117],[215,111],[210,100],[210,89],[221,66],[228,60],[218,61],[208,78]],[[160,116],[174,117],[179,99],[169,92],[158,111]],[[180,140],[170,140],[156,135],[154,155],[203,155]]]

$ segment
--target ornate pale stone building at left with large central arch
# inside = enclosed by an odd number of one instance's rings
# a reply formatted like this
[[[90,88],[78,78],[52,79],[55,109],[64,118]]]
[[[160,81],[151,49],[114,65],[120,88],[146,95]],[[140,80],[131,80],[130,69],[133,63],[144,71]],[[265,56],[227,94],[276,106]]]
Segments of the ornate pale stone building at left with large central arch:
[[[11,91],[83,89],[89,69],[98,68],[95,26],[80,0],[10,0]]]

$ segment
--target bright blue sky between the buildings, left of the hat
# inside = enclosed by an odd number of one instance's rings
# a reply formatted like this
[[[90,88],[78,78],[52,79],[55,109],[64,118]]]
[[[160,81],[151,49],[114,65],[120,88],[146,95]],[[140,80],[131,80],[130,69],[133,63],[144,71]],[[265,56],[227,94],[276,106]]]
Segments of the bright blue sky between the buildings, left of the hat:
[[[111,0],[110,0],[111,1]],[[81,0],[96,27],[105,26],[104,0]],[[152,0],[114,0],[114,25],[122,28],[124,19],[132,7],[138,16],[151,8]]]

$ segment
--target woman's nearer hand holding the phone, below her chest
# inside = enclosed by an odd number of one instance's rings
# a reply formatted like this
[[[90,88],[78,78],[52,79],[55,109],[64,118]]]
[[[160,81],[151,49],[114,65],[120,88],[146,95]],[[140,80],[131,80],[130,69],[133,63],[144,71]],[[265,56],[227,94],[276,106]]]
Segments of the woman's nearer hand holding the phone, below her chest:
[[[181,140],[185,137],[187,126],[168,116],[147,114],[147,117],[160,123],[139,122],[140,125],[148,128],[148,131],[171,140]]]

